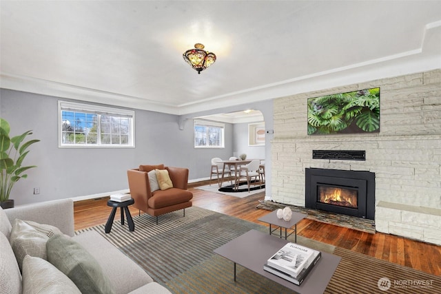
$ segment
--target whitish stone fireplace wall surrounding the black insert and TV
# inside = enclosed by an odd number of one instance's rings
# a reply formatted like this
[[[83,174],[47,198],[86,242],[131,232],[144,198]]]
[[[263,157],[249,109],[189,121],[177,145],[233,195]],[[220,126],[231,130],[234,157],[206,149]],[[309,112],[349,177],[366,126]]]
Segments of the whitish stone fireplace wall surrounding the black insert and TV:
[[[307,98],[380,87],[380,132],[307,135]],[[365,150],[365,161],[312,159]],[[274,100],[272,200],[305,206],[305,168],[376,174],[376,230],[441,244],[441,70]]]

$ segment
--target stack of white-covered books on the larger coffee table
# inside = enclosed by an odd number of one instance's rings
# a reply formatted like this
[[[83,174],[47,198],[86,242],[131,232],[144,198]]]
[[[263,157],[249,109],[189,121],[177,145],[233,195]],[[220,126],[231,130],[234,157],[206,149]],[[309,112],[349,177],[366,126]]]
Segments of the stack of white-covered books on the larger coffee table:
[[[267,265],[297,277],[305,264],[314,259],[314,251],[296,243],[288,243],[267,260]]]

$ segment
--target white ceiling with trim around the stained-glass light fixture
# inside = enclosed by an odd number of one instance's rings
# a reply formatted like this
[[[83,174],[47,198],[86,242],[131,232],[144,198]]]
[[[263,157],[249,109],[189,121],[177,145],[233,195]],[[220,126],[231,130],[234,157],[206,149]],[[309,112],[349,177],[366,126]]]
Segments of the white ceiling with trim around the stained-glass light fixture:
[[[441,68],[441,1],[0,1],[7,89],[189,114]],[[182,54],[217,61],[197,74]]]

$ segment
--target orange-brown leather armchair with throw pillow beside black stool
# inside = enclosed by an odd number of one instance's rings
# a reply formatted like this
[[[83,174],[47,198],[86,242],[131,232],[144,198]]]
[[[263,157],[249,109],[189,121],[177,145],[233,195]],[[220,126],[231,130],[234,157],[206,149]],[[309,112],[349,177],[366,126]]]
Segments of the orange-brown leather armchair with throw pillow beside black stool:
[[[147,172],[152,169],[167,169],[173,187],[166,190],[151,191]],[[192,207],[193,193],[187,190],[188,169],[182,167],[164,167],[164,165],[140,165],[139,169],[127,171],[130,195],[135,200],[134,207],[150,216],[158,216],[179,209]]]

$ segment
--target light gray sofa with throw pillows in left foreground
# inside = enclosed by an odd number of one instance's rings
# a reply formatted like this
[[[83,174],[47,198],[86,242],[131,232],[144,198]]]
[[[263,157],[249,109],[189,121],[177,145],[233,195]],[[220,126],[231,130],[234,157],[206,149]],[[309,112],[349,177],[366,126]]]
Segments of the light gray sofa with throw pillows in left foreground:
[[[72,289],[75,288],[75,286],[72,286],[71,282],[75,281],[75,279],[69,278],[70,275],[68,273],[61,271],[65,273],[65,277],[59,277],[57,272],[59,271],[59,268],[57,269],[56,266],[52,265],[56,264],[56,262],[53,262],[54,257],[52,257],[53,263],[50,263],[46,262],[44,258],[30,258],[29,255],[27,255],[24,259],[21,258],[23,263],[19,267],[21,262],[17,262],[17,260],[20,260],[20,258],[16,258],[10,244],[12,226],[17,228],[17,222],[19,222],[16,219],[54,226],[56,227],[55,229],[58,228],[59,231],[64,234],[56,235],[57,238],[61,238],[63,242],[71,242],[74,246],[80,244],[79,247],[83,247],[81,250],[85,249],[88,254],[90,253],[90,255],[92,255],[93,258],[88,259],[96,260],[99,267],[101,266],[102,273],[105,276],[104,280],[107,281],[107,284],[110,283],[110,288],[112,288],[111,292],[113,293],[170,293],[167,288],[153,282],[150,275],[147,275],[147,273],[145,273],[145,271],[143,271],[138,264],[130,260],[130,258],[127,258],[126,255],[116,249],[116,247],[110,244],[110,242],[107,242],[107,240],[105,240],[105,238],[103,238],[99,233],[96,233],[96,231],[88,231],[79,235],[74,235],[74,210],[72,200],[56,200],[51,202],[23,205],[14,207],[12,209],[3,210],[0,208],[1,294],[30,293],[28,292],[30,287],[32,287],[31,293],[37,293],[34,292],[37,290],[35,287],[38,286],[35,283],[43,284],[43,286],[48,287],[48,289],[52,288],[52,293],[55,291],[59,293],[63,287],[69,288],[71,286]],[[31,228],[32,224],[34,224],[32,222],[29,222],[31,224]],[[23,224],[28,226],[28,223],[26,222],[23,222]],[[14,230],[17,231],[17,229]],[[48,240],[56,239],[49,234],[47,238]],[[46,244],[48,244],[49,247],[50,241],[47,242],[48,243]],[[69,248],[70,247],[68,246],[64,246],[64,248],[61,248],[61,250],[68,250],[65,251],[65,253],[67,252],[69,254]],[[15,245],[14,250],[17,252]],[[47,254],[48,260],[50,260],[49,252]],[[63,262],[64,260],[60,261]],[[43,266],[44,269],[41,269],[41,266]],[[70,266],[70,264],[68,264],[68,266]],[[45,269],[45,267],[48,267],[48,269]],[[52,269],[52,267],[55,269]],[[23,269],[23,275],[20,268]],[[57,272],[57,275],[54,274],[54,271]],[[78,283],[78,281],[76,281],[76,283]],[[78,288],[80,289],[81,287]],[[65,291],[65,293],[78,292],[76,292],[76,290],[72,290]]]

